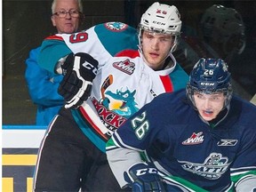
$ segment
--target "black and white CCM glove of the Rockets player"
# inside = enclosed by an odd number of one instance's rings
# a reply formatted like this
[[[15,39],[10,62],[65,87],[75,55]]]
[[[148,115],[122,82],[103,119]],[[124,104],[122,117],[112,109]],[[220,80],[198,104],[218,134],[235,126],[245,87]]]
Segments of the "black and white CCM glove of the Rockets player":
[[[87,53],[71,53],[61,68],[64,77],[58,92],[66,101],[65,108],[78,108],[91,95],[92,80],[97,74],[98,61]]]

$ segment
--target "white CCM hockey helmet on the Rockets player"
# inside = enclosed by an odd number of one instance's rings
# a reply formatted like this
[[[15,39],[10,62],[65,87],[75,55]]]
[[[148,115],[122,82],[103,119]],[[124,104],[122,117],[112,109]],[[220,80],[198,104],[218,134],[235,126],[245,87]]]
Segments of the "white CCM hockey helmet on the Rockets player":
[[[181,20],[177,7],[155,2],[142,14],[139,24],[139,40],[143,30],[153,33],[162,33],[175,36],[174,45],[177,44],[177,36],[180,36]],[[172,49],[173,51],[173,49]]]

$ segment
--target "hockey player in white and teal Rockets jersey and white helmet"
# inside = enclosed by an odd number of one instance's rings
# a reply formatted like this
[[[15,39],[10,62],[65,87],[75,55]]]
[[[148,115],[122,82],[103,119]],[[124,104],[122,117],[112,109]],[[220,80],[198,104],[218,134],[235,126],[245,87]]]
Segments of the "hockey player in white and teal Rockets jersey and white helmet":
[[[39,148],[35,191],[121,190],[106,142],[157,95],[186,87],[188,75],[172,56],[180,28],[178,9],[155,3],[142,15],[139,34],[108,22],[44,40],[39,65],[64,75],[59,92],[66,105]]]

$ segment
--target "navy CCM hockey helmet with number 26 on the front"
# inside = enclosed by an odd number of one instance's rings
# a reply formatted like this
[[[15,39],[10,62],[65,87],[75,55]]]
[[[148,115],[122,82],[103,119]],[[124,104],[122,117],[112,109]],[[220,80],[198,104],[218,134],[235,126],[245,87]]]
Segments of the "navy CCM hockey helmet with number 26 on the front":
[[[200,59],[192,69],[186,87],[187,97],[195,105],[193,95],[195,92],[204,94],[223,92],[226,96],[226,108],[232,97],[232,86],[228,65],[221,59]]]

